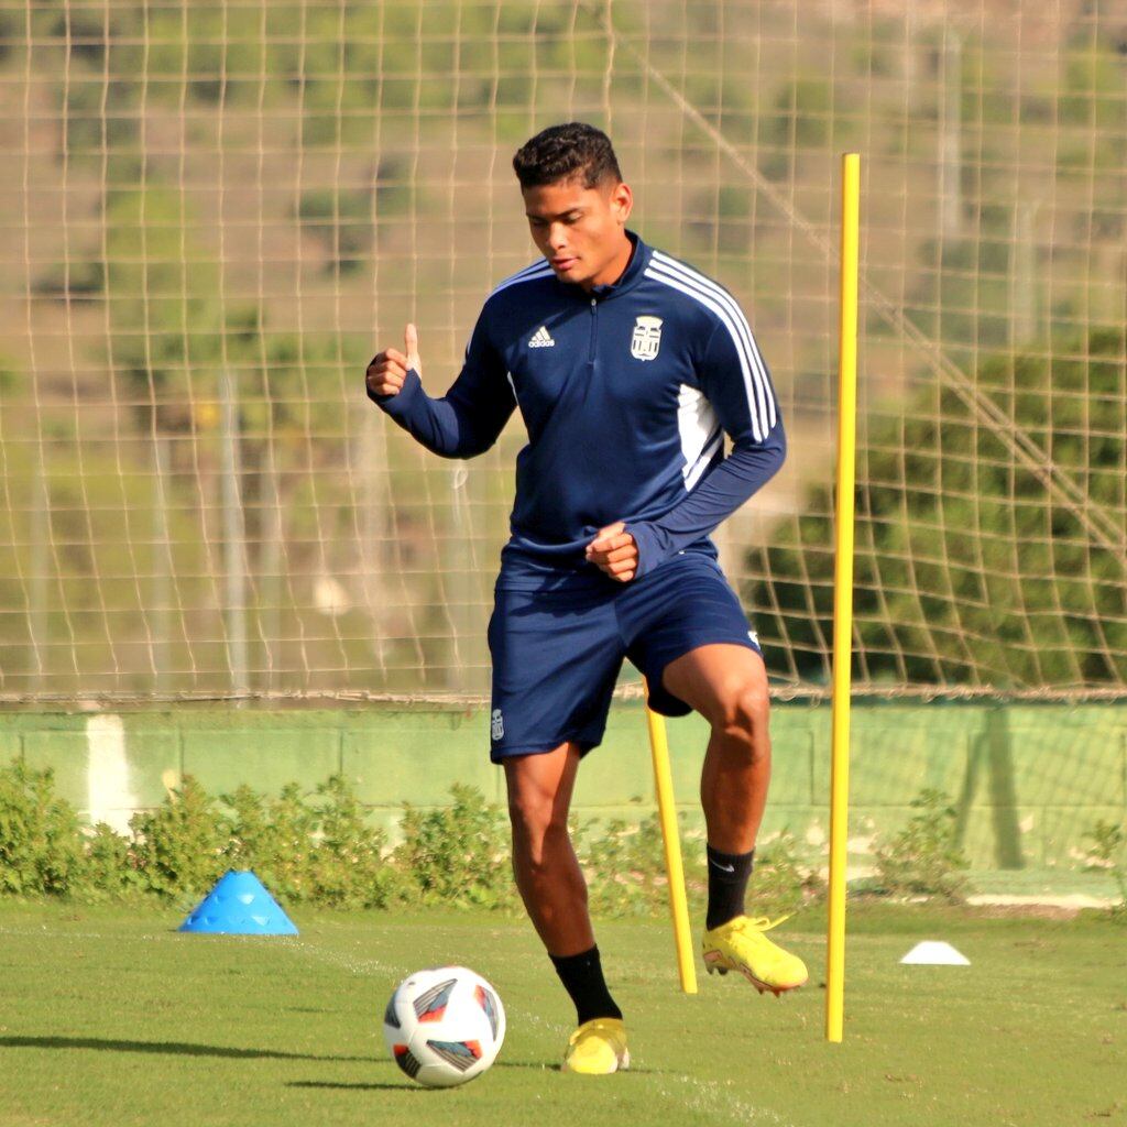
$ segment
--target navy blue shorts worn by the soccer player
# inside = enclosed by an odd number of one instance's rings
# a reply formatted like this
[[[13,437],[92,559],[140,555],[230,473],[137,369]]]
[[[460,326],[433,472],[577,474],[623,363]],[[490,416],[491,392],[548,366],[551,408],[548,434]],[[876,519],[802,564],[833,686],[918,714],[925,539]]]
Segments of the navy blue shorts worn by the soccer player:
[[[760,653],[736,593],[716,560],[675,556],[641,579],[548,591],[498,585],[489,620],[490,758],[548,752],[573,740],[586,754],[606,728],[623,658],[646,677],[649,707],[685,716],[662,685],[665,667],[699,646]]]

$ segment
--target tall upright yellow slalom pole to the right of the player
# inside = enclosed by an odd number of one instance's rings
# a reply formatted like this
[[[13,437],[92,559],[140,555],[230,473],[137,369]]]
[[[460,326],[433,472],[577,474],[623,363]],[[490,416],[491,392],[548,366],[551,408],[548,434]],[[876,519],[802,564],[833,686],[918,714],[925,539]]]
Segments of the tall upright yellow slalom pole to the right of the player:
[[[834,696],[829,781],[829,932],[826,1040],[840,1042],[845,1011],[845,853],[849,836],[849,712],[853,636],[853,492],[857,467],[857,291],[861,158],[842,157],[841,353],[837,382],[837,504],[834,562]]]

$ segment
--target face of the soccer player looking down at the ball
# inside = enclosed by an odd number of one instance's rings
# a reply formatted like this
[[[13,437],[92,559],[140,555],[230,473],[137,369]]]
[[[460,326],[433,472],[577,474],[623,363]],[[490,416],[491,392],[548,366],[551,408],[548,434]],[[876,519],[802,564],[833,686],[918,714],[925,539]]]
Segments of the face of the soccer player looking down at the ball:
[[[587,188],[576,178],[522,195],[532,239],[561,282],[586,290],[619,279],[630,258],[625,224],[633,196],[625,184]]]

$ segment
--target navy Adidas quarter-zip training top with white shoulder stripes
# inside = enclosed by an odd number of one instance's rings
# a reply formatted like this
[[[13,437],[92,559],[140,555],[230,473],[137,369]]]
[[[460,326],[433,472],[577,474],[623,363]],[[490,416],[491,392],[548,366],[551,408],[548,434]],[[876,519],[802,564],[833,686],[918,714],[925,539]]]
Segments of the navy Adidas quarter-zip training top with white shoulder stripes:
[[[442,399],[414,370],[397,394],[375,397],[445,458],[483,453],[520,408],[529,442],[503,586],[605,580],[584,550],[615,521],[638,544],[639,577],[682,550],[715,557],[708,534],[786,458],[771,376],[736,300],[627,233],[633,251],[613,285],[587,293],[543,259],[502,282]]]

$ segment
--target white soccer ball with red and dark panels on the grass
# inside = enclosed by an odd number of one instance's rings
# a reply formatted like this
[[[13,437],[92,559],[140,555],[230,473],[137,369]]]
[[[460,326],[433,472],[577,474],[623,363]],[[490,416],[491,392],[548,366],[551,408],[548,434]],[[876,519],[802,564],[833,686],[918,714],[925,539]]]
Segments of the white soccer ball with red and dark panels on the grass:
[[[465,967],[417,970],[388,1002],[383,1039],[411,1080],[453,1088],[480,1076],[497,1058],[505,1009],[497,991]]]

